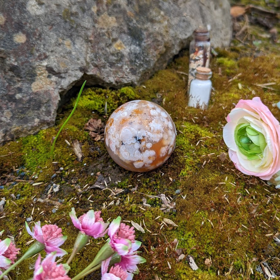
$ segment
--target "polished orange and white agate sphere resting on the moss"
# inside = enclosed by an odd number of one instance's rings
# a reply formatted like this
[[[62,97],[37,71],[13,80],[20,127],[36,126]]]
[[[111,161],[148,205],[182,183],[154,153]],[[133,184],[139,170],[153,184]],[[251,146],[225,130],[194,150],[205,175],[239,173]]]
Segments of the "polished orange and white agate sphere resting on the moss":
[[[118,107],[105,127],[105,146],[121,167],[145,172],[159,167],[175,148],[176,128],[159,105],[133,100]]]

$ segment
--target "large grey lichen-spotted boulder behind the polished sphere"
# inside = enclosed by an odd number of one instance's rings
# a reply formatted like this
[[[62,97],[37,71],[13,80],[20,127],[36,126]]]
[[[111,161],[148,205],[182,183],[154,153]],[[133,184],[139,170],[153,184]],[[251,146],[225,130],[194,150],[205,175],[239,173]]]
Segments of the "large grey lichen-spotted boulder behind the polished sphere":
[[[52,126],[60,96],[137,85],[211,26],[229,44],[228,0],[0,1],[0,143]]]

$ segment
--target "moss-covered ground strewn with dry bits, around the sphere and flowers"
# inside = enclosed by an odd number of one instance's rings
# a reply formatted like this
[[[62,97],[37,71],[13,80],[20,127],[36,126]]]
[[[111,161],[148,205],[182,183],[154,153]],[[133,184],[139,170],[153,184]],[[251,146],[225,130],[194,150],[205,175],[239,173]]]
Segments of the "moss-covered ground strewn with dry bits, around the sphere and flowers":
[[[252,26],[251,33],[254,30],[261,30],[256,31],[256,38],[267,32],[261,26]],[[134,279],[265,279],[260,272],[263,262],[280,275],[280,246],[273,239],[280,231],[277,189],[236,170],[222,140],[225,117],[239,99],[259,96],[280,120],[280,110],[274,106],[280,100],[279,46],[279,42],[260,37],[258,46],[233,40],[230,47],[216,49],[207,110],[187,107],[185,51],[139,87],[86,89],[56,142],[53,162],[52,139],[71,112],[74,99],[58,115],[54,127],[1,146],[0,195],[6,200],[0,217],[3,237],[12,236],[22,255],[31,240],[24,228],[27,218],[30,226],[38,220],[56,223],[68,236],[62,248],[71,253],[78,233],[68,216],[71,207],[77,215],[102,210],[104,220],[120,215],[144,228],[144,233],[136,231],[136,238],[142,241],[141,255],[147,262],[139,266]],[[259,86],[267,83],[275,84]],[[143,174],[118,167],[104,143],[93,141],[84,129],[90,118],[105,123],[114,109],[132,99],[160,103],[178,131],[168,161]],[[67,144],[75,139],[82,144],[82,162]],[[108,189],[88,189],[104,180]],[[52,190],[53,183],[59,185],[58,192]],[[169,212],[160,209],[162,193],[172,201]],[[143,198],[150,207],[143,205]],[[102,242],[92,240],[74,258],[70,277],[89,263]],[[193,256],[199,269],[193,271],[186,257],[178,260],[180,254]],[[34,262],[23,262],[10,274],[11,279],[30,278]],[[100,279],[100,273],[87,279]]]

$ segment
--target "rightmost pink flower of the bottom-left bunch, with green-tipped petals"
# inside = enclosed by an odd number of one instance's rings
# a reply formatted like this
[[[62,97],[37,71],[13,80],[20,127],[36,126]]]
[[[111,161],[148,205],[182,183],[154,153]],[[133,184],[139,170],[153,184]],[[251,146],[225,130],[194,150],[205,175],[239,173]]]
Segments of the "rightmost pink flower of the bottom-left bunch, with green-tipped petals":
[[[118,263],[118,265],[121,266],[122,269],[134,274],[139,273],[137,264],[146,262],[146,259],[137,255],[138,252],[136,250],[138,250],[140,246],[141,242],[135,241],[134,243],[132,243],[131,249],[128,254],[121,256],[121,261]]]

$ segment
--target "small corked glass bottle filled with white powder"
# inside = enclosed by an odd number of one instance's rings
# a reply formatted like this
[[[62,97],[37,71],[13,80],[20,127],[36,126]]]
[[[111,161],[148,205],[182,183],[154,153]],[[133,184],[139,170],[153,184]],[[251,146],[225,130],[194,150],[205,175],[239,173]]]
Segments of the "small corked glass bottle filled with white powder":
[[[195,79],[190,83],[188,106],[201,109],[208,107],[212,89],[211,76],[210,68],[196,68]]]

